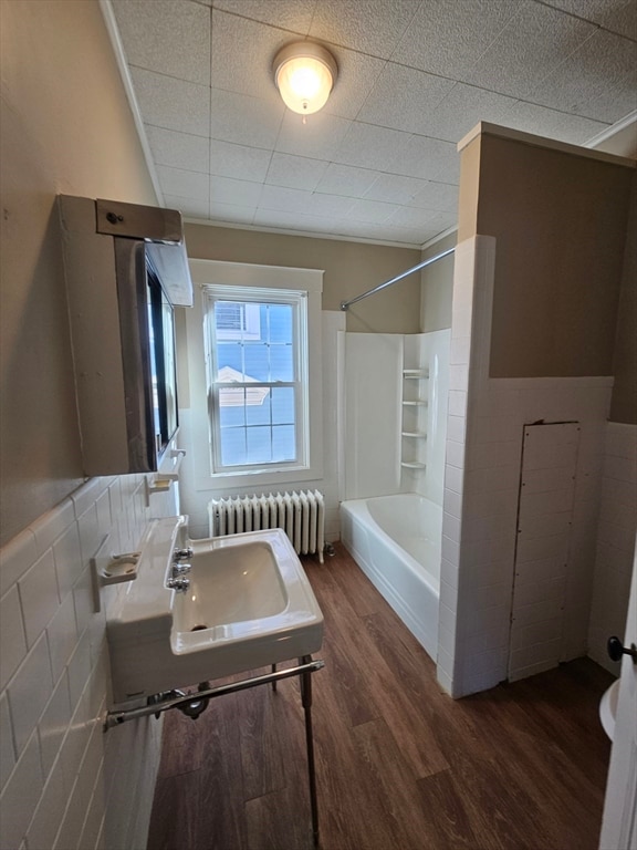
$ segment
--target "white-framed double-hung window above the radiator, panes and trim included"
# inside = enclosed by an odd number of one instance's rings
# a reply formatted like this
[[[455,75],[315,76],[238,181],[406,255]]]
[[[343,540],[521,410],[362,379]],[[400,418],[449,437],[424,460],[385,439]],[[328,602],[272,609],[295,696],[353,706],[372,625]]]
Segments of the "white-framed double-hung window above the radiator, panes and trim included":
[[[182,439],[197,490],[285,489],[323,477],[323,272],[189,260]],[[181,317],[180,317],[181,321]]]

